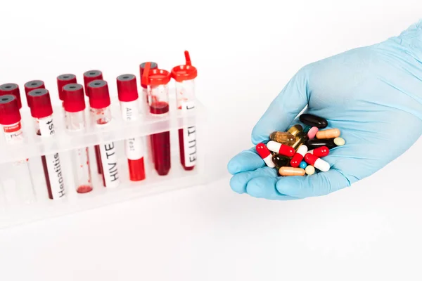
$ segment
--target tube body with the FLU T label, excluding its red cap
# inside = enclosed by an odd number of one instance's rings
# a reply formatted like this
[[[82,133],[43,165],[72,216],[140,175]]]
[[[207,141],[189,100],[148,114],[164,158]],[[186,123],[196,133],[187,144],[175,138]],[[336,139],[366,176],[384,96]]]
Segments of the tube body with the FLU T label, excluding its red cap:
[[[177,109],[188,112],[195,109],[194,79],[176,82]],[[196,126],[179,129],[180,163],[186,171],[196,165]]]

